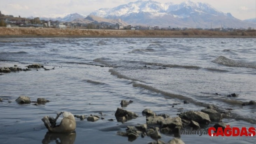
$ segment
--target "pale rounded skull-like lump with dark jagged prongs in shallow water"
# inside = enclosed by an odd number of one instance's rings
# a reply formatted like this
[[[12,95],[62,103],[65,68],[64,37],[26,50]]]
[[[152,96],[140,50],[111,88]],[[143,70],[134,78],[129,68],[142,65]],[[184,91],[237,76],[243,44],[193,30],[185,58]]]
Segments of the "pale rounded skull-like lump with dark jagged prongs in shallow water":
[[[59,118],[60,114],[63,114],[63,119],[61,120],[60,125],[56,126],[56,121]],[[57,117],[54,119],[52,117],[43,117],[42,121],[44,122],[44,125],[50,132],[72,132],[76,130],[76,120],[74,118],[74,115],[69,112],[62,112],[58,113]]]

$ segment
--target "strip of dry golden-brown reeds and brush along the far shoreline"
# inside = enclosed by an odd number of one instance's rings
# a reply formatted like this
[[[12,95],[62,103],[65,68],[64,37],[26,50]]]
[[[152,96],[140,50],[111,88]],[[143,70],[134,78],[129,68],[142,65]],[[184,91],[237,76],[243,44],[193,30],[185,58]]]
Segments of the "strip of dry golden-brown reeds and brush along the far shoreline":
[[[103,38],[256,38],[256,30],[210,31],[210,30],[92,30],[0,27],[0,38],[22,37],[103,37]]]

